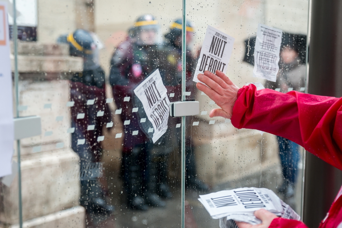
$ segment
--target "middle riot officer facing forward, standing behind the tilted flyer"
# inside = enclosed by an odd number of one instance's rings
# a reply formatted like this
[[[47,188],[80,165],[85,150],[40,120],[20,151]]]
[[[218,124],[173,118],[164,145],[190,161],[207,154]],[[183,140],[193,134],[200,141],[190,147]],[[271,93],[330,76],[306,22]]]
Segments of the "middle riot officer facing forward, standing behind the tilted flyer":
[[[148,205],[166,205],[158,196],[162,189],[158,185],[156,175],[163,165],[152,152],[153,143],[142,131],[139,115],[132,112],[136,106],[133,90],[157,69],[156,54],[161,41],[160,27],[154,16],[145,14],[137,18],[128,34],[126,41],[117,47],[111,58],[109,82],[113,88],[117,108],[121,109],[121,121],[130,121],[129,124],[123,125],[121,163],[127,206],[131,209],[147,210]],[[125,97],[129,99],[124,100]],[[139,107],[138,111],[142,109]],[[133,131],[137,130],[137,135],[133,135]],[[163,169],[166,169],[166,166],[163,166]]]

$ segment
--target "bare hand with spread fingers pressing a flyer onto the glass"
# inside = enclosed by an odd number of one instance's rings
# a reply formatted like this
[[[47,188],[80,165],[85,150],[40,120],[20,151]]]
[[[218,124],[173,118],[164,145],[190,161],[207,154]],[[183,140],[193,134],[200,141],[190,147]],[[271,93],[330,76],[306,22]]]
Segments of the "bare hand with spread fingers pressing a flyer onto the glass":
[[[220,108],[215,108],[210,111],[209,116],[221,116],[227,119],[232,118],[233,107],[237,99],[237,87],[222,71],[216,70],[216,75],[209,71],[204,71],[204,74],[198,74],[197,78],[202,83],[197,83],[196,87],[200,91],[207,94]]]

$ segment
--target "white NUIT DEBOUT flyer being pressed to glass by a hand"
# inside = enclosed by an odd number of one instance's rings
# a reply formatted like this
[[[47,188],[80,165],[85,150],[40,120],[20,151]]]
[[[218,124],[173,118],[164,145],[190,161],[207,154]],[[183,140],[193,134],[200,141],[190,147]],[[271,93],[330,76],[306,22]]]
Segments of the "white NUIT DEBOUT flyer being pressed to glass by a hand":
[[[226,73],[234,40],[233,37],[208,25],[193,81],[200,82],[197,75],[206,70],[212,73],[221,70]]]

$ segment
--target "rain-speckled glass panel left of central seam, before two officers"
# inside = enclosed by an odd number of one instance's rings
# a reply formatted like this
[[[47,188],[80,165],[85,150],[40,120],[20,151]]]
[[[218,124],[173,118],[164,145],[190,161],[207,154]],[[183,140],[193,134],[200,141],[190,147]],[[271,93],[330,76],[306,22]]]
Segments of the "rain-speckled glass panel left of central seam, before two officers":
[[[159,68],[170,102],[181,99],[182,39],[169,32],[182,1],[17,5],[28,18],[18,19],[19,115],[42,128],[20,144],[24,226],[180,226],[181,119],[154,144],[133,89]],[[1,224],[18,223],[16,183],[2,186]]]

